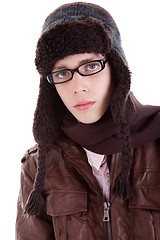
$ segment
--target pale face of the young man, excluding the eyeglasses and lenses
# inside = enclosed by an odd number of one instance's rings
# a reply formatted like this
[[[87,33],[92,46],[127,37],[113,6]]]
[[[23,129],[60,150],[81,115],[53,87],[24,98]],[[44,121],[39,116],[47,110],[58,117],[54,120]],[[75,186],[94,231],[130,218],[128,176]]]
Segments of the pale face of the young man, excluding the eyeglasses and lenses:
[[[70,55],[59,60],[53,71],[75,69],[81,62],[104,60],[104,56],[97,53],[83,53]],[[56,84],[56,90],[63,103],[73,116],[82,123],[89,124],[98,121],[106,112],[112,93],[111,69],[108,63],[105,68],[91,76],[81,76],[74,73],[69,82]]]

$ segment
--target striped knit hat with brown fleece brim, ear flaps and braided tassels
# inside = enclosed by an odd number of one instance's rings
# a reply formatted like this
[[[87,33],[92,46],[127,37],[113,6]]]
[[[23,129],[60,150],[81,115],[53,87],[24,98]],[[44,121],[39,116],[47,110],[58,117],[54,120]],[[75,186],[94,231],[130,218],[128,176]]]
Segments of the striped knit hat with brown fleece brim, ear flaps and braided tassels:
[[[113,193],[123,199],[131,196],[128,173],[132,153],[128,124],[135,116],[135,107],[130,95],[131,74],[121,46],[120,33],[105,9],[91,3],[75,2],[60,6],[47,17],[37,43],[35,64],[40,73],[40,92],[33,134],[39,145],[39,158],[34,188],[26,204],[29,215],[37,215],[40,211],[46,146],[56,143],[66,111],[55,86],[47,82],[46,76],[51,73],[56,61],[72,54],[92,52],[107,56],[116,79],[110,110],[114,122],[121,129],[122,169]]]

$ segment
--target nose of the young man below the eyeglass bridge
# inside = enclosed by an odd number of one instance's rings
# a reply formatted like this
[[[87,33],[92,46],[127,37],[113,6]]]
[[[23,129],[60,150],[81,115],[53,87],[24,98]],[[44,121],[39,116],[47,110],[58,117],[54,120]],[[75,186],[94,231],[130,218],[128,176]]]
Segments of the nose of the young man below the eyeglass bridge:
[[[74,93],[88,92],[87,77],[81,76],[78,72],[74,72],[72,84]]]

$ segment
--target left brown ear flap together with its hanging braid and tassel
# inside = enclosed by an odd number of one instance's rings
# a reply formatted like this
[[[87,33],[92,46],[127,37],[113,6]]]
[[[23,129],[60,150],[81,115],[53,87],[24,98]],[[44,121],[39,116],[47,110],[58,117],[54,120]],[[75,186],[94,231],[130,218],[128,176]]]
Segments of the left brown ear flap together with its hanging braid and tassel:
[[[41,77],[33,122],[33,135],[39,149],[37,174],[33,190],[25,206],[25,211],[29,215],[36,216],[40,213],[41,192],[45,180],[46,148],[48,144],[56,142],[64,112],[64,104],[54,85],[50,85],[45,77]]]

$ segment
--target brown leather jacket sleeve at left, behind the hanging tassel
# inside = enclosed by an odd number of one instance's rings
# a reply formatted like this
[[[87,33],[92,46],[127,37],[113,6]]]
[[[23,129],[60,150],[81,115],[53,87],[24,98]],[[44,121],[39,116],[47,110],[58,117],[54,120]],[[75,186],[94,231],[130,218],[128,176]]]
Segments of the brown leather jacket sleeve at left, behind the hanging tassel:
[[[33,188],[36,174],[37,150],[28,152],[22,159],[21,185],[17,202],[17,219],[15,228],[16,240],[53,240],[54,232],[52,219],[46,214],[45,194],[41,201],[41,211],[39,216],[28,216],[24,213],[24,208],[28,196]],[[33,175],[34,174],[34,175]]]

